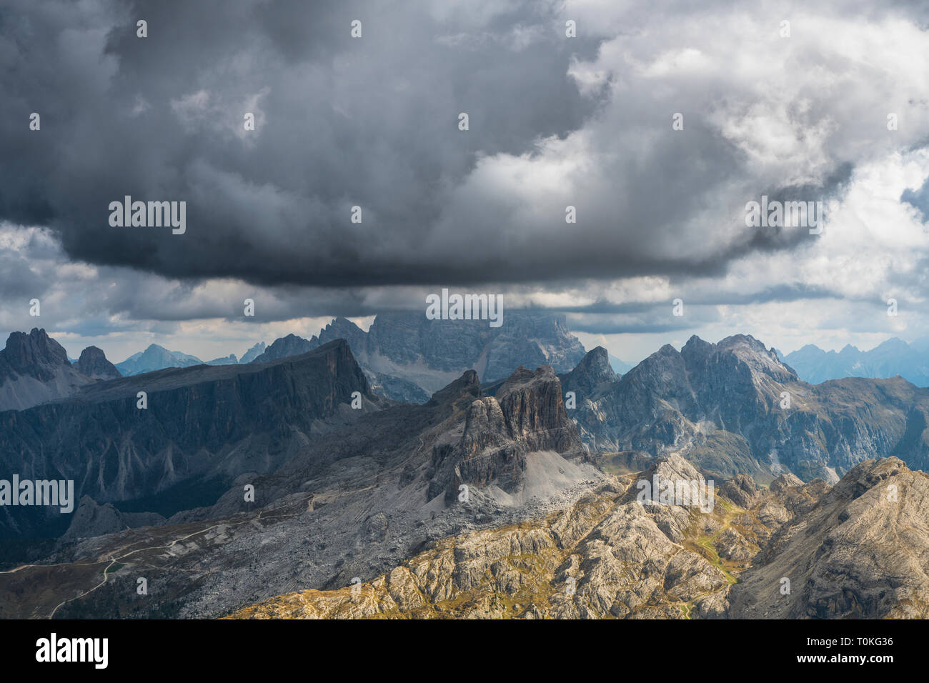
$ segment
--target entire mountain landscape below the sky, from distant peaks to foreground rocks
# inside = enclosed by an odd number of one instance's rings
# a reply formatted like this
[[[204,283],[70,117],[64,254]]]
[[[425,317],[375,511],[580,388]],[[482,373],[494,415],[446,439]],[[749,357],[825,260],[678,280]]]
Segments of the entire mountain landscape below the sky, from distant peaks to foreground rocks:
[[[485,376],[396,401],[354,348],[424,373],[474,349],[342,320],[320,337],[354,347],[284,337],[250,363],[111,379],[90,376],[112,374],[102,353],[79,372],[43,331],[16,336],[14,383],[78,384],[0,412],[0,471],[70,479],[79,503],[0,506],[4,562],[26,563],[0,573],[0,616],[929,616],[929,389],[810,385],[749,335],[622,375],[567,343],[557,367],[495,376],[546,348],[537,327],[478,335]],[[656,478],[714,480],[717,505],[642,505]]]

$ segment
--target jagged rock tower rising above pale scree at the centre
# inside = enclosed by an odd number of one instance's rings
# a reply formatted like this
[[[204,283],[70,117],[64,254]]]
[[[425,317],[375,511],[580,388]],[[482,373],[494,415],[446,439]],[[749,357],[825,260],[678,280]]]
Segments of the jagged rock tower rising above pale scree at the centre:
[[[555,371],[518,368],[495,396],[477,398],[466,409],[460,437],[433,447],[430,497],[445,492],[446,502],[462,484],[495,485],[516,491],[530,453],[551,451],[567,457],[584,453],[577,428],[561,399]]]

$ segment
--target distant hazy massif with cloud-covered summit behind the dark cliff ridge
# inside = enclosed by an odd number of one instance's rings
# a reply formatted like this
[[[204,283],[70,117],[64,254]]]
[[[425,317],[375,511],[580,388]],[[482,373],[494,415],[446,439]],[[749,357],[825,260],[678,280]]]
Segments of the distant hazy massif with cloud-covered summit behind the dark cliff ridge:
[[[481,321],[430,321],[422,313],[387,313],[378,315],[368,332],[346,318],[335,318],[320,335],[309,339],[286,335],[268,347],[264,342],[255,344],[241,359],[229,354],[205,364],[279,360],[306,353],[334,339],[347,340],[376,393],[396,401],[419,403],[428,401],[434,391],[465,370],[475,370],[485,381],[503,379],[521,364],[531,367],[548,364],[558,372],[566,372],[584,354],[581,342],[570,334],[563,315],[512,311],[507,314],[506,325],[491,328]],[[66,354],[48,362],[57,366],[64,361]],[[622,361],[614,361],[622,365]],[[203,361],[196,356],[151,344],[116,363],[115,369],[123,376],[134,376],[201,364]],[[40,381],[53,382],[54,387],[31,385],[28,390],[7,387],[7,392],[18,392],[19,398],[12,395],[5,398],[5,380],[0,375],[0,410],[71,396],[85,384],[84,378],[62,372],[66,379],[53,379],[48,373],[42,375],[48,379]]]

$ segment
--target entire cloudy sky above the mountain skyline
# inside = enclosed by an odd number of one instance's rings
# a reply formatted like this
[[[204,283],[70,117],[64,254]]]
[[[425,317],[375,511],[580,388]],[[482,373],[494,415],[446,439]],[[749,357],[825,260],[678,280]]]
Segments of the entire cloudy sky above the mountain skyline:
[[[882,5],[5,0],[0,332],[208,360],[448,286],[628,361],[929,335],[929,5]]]

